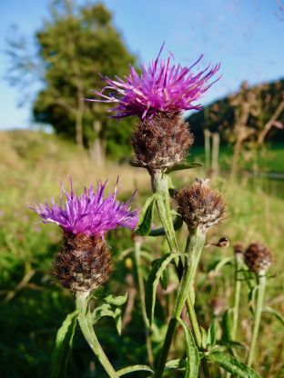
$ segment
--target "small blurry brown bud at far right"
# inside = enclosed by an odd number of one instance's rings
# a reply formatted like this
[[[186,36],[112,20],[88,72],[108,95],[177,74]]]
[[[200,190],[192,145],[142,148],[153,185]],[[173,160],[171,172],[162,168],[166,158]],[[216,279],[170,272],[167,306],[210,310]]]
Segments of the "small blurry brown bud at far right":
[[[269,248],[262,243],[252,243],[245,252],[245,263],[251,272],[259,274],[266,271],[272,264],[272,254]]]

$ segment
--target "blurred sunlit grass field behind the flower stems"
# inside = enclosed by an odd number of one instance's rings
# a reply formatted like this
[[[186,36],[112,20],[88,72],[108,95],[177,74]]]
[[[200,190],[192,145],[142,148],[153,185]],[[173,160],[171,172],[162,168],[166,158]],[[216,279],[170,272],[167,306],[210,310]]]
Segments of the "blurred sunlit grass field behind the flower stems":
[[[0,375],[9,378],[46,378],[50,374],[50,356],[55,342],[56,330],[66,317],[73,311],[73,296],[58,285],[50,285],[53,281],[49,273],[49,262],[53,254],[60,248],[61,234],[54,224],[35,224],[36,214],[28,210],[25,203],[32,205],[54,197],[59,199],[62,178],[66,191],[69,191],[67,174],[73,179],[76,193],[83,193],[83,187],[91,181],[109,178],[106,192],[111,193],[117,181],[122,184],[118,199],[123,201],[137,188],[137,195],[132,206],[142,207],[150,194],[149,176],[146,170],[130,167],[127,164],[106,164],[97,167],[88,157],[76,152],[76,146],[56,138],[35,132],[14,132],[0,134],[0,284],[1,306],[0,319],[3,324],[0,338],[0,350],[3,355]],[[227,156],[222,147],[222,156]],[[192,159],[202,161],[198,147],[191,151]],[[269,160],[269,169],[282,172],[280,146],[273,147]],[[268,154],[270,155],[270,153]],[[223,164],[223,163],[220,163]],[[182,171],[172,175],[174,184],[179,187],[191,183],[195,176],[204,176],[204,169]],[[214,243],[218,238],[226,236],[230,241],[228,249],[205,249],[199,265],[196,280],[199,323],[206,329],[213,322],[214,314],[210,307],[212,298],[220,299],[222,308],[215,321],[221,323],[221,315],[232,304],[234,293],[234,270],[226,265],[220,273],[214,272],[218,260],[231,256],[232,244],[243,242],[248,245],[252,241],[268,244],[274,251],[276,264],[269,274],[276,274],[268,280],[266,303],[284,314],[283,282],[284,273],[284,200],[277,189],[275,194],[267,190],[267,180],[259,180],[248,176],[240,177],[227,191],[226,176],[217,177],[212,186],[223,189],[228,199],[228,220],[221,228],[210,229],[207,243]],[[273,186],[273,185],[272,185]],[[284,183],[279,184],[284,188]],[[172,207],[175,206],[174,201]],[[156,224],[158,222],[156,219]],[[137,274],[135,260],[131,254],[121,259],[123,251],[133,245],[131,233],[127,229],[112,231],[106,235],[116,269],[104,289],[96,293],[96,304],[102,303],[102,296],[108,293],[128,295],[133,293],[133,306],[123,308],[126,322],[122,336],[119,337],[113,323],[104,318],[95,327],[97,336],[106,354],[115,367],[147,363],[145,334],[141,307],[137,295]],[[177,232],[180,249],[184,247],[187,229],[185,226]],[[152,255],[153,260],[167,252],[167,244],[163,237],[147,238],[144,248]],[[150,265],[144,262],[145,277]],[[171,283],[177,282],[173,269],[169,268]],[[153,332],[151,341],[153,354],[160,350],[167,314],[174,301],[174,291],[163,293],[158,288],[157,312],[155,322],[158,332]],[[253,318],[249,313],[248,288],[242,284],[242,307],[238,326],[238,342],[249,346],[249,337]],[[130,318],[126,317],[130,311]],[[105,320],[106,319],[106,320]],[[218,329],[218,337],[221,331]],[[171,349],[170,358],[185,358],[183,334],[178,331],[175,344]],[[269,313],[263,314],[254,368],[261,377],[276,378],[284,376],[284,333],[283,326]],[[245,352],[240,351],[239,357],[245,360]],[[212,377],[224,376],[218,368],[212,367]],[[7,372],[9,372],[7,374]],[[100,364],[96,361],[86,344],[79,329],[76,329],[74,351],[70,357],[67,376],[99,377],[103,374]],[[174,375],[173,375],[174,374]],[[136,373],[136,376],[146,376]],[[171,373],[169,376],[183,376],[182,373]],[[130,375],[129,375],[130,377]]]

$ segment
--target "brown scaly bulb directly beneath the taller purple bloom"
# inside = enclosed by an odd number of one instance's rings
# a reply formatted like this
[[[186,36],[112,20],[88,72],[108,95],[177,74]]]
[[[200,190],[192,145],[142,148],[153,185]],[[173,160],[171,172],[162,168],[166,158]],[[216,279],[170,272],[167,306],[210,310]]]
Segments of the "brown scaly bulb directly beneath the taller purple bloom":
[[[166,169],[186,159],[193,136],[181,113],[158,112],[139,120],[130,135],[134,161],[149,169]]]

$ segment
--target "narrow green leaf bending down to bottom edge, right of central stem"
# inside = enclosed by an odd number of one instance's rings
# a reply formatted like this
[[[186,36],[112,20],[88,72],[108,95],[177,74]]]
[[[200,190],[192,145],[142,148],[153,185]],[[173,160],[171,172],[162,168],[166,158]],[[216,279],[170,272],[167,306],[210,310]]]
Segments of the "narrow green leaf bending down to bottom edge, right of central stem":
[[[199,353],[188,324],[182,319],[177,319],[182,325],[186,336],[187,373],[185,378],[198,378]]]

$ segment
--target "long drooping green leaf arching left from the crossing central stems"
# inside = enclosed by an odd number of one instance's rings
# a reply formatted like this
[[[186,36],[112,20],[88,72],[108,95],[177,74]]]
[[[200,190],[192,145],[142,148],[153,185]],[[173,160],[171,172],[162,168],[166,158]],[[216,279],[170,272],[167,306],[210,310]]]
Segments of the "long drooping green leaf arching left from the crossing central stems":
[[[179,252],[173,252],[165,254],[161,259],[159,259],[153,266],[150,274],[147,278],[146,284],[146,291],[145,291],[145,304],[146,304],[146,312],[147,318],[149,321],[149,326],[151,329],[153,320],[154,320],[154,310],[155,310],[155,303],[156,303],[156,290],[157,284],[160,276],[162,275],[164,269],[166,268],[167,264],[171,262],[173,258],[176,256],[182,255]]]

